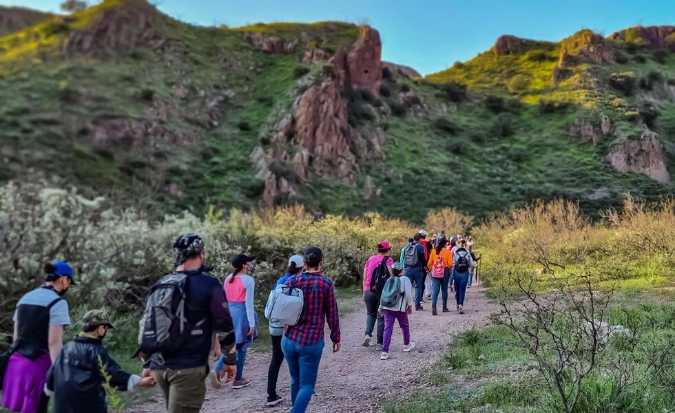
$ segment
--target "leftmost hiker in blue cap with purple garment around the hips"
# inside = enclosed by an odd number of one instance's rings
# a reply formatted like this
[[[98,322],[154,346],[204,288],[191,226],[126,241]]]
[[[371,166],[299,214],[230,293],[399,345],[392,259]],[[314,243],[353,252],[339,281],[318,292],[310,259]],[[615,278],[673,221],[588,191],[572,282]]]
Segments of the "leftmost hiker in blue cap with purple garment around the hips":
[[[2,407],[12,412],[47,412],[47,372],[63,347],[63,328],[70,324],[63,295],[75,285],[72,268],[59,261],[44,269],[45,284],[19,299],[12,318],[14,336],[2,387]]]

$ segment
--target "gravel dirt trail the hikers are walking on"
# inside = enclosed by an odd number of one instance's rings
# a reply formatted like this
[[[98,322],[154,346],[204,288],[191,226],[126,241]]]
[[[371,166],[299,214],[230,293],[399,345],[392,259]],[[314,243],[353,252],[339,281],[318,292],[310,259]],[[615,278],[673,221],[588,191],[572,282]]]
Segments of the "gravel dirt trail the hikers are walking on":
[[[319,367],[315,394],[307,411],[377,412],[385,395],[386,399],[403,398],[411,394],[411,389],[419,389],[426,380],[424,373],[438,359],[451,336],[473,326],[484,326],[487,317],[497,310],[494,304],[487,301],[482,288],[473,286],[466,291],[464,315],[454,310],[454,293],[448,297],[450,313],[439,313],[433,317],[430,301],[422,304],[424,311],[413,312],[410,316],[411,338],[416,347],[410,353],[403,352],[401,330],[395,324],[390,357],[386,361],[380,360],[380,352],[375,352],[374,344],[371,348],[361,346],[366,312],[364,305],[355,298],[353,305],[358,310],[340,317],[342,348],[337,353],[331,351],[326,328],[326,348]],[[286,400],[276,407],[266,407],[264,404],[270,357],[271,354],[267,352],[249,354],[244,372],[244,377],[251,380],[247,388],[212,390],[208,386],[202,412],[288,412],[291,405],[290,377],[285,362],[279,374],[277,392]],[[155,401],[136,407],[134,412],[165,412],[165,409],[158,396]]]

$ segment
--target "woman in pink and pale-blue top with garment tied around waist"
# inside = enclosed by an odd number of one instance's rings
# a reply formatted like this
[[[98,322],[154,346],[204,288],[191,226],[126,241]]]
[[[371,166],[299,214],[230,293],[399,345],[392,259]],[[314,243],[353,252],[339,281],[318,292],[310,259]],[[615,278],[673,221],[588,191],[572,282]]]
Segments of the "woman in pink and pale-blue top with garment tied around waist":
[[[253,260],[256,260],[256,257],[237,255],[232,260],[232,273],[225,278],[225,296],[237,340],[237,374],[232,383],[233,389],[245,388],[251,384],[243,374],[246,351],[251,347],[253,340],[258,338],[258,314],[253,309],[256,282],[249,275],[253,271]]]

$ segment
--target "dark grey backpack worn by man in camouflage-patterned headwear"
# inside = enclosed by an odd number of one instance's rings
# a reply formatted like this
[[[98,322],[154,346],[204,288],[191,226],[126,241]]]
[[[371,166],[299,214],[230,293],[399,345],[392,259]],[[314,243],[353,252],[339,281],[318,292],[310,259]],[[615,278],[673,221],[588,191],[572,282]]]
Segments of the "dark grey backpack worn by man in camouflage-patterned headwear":
[[[190,326],[185,318],[185,273],[162,277],[147,293],[143,317],[138,321],[138,350],[145,354],[175,352],[194,335],[203,334],[199,321]],[[193,327],[198,329],[192,330]]]

